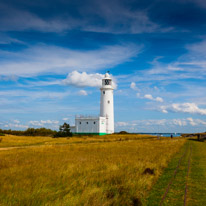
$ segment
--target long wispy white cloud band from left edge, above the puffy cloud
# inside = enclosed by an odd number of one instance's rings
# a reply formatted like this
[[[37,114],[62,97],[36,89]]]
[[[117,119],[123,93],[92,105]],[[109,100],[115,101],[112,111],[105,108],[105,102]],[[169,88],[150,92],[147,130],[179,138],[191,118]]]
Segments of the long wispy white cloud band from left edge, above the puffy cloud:
[[[93,71],[112,68],[141,51],[141,46],[114,45],[97,50],[77,51],[57,46],[33,46],[18,52],[0,50],[2,56],[0,75],[36,76],[44,73]]]

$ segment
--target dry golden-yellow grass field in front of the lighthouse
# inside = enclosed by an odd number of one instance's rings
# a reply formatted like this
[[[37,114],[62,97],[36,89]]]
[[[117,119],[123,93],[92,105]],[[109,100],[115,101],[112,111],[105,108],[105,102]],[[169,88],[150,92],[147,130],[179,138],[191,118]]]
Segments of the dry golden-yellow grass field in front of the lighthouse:
[[[53,145],[0,151],[0,205],[144,203],[185,142],[135,135],[43,140],[48,141]],[[154,175],[143,175],[145,168],[154,169]]]

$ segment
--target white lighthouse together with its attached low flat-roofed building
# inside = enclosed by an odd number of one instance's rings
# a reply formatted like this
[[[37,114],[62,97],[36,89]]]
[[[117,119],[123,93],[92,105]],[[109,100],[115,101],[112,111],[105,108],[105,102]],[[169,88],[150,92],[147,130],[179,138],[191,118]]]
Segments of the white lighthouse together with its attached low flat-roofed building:
[[[113,84],[108,73],[102,79],[100,116],[76,116],[71,132],[76,134],[105,135],[114,133]]]

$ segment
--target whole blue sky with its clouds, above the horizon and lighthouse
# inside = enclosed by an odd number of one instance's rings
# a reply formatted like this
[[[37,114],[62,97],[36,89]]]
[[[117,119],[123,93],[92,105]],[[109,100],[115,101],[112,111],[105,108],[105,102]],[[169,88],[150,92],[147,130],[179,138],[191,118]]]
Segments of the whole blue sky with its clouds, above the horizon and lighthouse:
[[[0,128],[98,115],[107,70],[116,131],[206,131],[206,1],[0,1]]]

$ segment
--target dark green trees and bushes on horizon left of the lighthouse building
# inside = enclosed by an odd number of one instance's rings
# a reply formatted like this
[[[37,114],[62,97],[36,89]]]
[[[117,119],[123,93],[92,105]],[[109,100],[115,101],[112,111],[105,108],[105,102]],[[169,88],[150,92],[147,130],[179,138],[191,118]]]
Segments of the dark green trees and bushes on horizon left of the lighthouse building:
[[[64,123],[63,125],[60,125],[59,131],[51,130],[47,128],[28,128],[25,131],[20,130],[3,130],[0,129],[0,134],[10,134],[10,135],[17,135],[17,136],[49,136],[49,137],[71,137],[72,133],[70,132],[70,125],[67,123]]]

